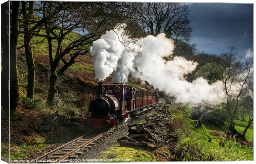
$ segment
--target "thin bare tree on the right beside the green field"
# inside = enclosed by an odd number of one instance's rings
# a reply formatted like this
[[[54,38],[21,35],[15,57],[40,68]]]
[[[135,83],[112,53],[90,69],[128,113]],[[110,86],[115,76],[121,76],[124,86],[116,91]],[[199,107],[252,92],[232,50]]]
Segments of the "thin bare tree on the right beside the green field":
[[[239,133],[235,129],[235,115],[241,106],[240,98],[246,92],[249,92],[249,81],[253,77],[253,60],[252,58],[244,58],[244,61],[239,60],[235,47],[230,47],[230,53],[223,53],[221,55],[223,59],[224,67],[224,92],[226,95],[226,109],[230,116],[229,131],[231,136],[237,135],[241,139],[245,139],[245,133]],[[253,119],[252,119],[253,120]],[[251,122],[252,122],[251,120]],[[249,122],[249,125],[251,124]]]

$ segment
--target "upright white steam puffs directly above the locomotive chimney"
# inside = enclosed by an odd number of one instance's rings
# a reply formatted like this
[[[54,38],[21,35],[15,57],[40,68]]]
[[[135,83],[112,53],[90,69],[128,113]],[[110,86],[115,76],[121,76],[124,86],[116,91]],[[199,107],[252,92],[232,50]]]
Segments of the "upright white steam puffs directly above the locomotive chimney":
[[[136,49],[124,34],[126,24],[118,25],[118,30],[110,30],[92,43],[90,53],[93,57],[95,79],[105,80],[110,74],[116,83],[126,83],[128,75],[133,71],[133,53],[127,49]]]

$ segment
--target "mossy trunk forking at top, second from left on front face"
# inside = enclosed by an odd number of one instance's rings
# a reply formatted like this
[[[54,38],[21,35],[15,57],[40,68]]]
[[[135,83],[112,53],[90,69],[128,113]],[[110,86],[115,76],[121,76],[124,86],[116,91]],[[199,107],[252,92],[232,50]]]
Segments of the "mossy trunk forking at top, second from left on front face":
[[[27,98],[33,99],[34,95],[34,88],[35,88],[35,63],[34,63],[34,57],[33,52],[30,46],[30,41],[32,39],[32,34],[29,33],[29,26],[30,26],[30,19],[33,16],[33,10],[34,10],[34,2],[30,1],[28,6],[28,12],[26,2],[22,3],[22,10],[23,10],[23,17],[24,17],[24,48],[25,48],[25,54],[26,54],[26,62],[28,66],[28,88],[27,88]]]

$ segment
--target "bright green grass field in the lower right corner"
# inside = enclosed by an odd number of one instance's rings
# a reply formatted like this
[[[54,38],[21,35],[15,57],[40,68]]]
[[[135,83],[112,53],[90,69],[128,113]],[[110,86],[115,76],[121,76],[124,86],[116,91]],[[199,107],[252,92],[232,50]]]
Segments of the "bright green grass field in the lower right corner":
[[[224,132],[207,129],[202,125],[195,127],[197,120],[191,120],[184,112],[173,113],[172,119],[185,120],[185,129],[178,130],[179,140],[176,143],[175,155],[181,156],[183,161],[235,161],[253,160],[253,148],[237,143],[234,139],[227,139]],[[244,129],[246,124],[236,122],[236,128]],[[238,124],[240,123],[240,124]],[[250,139],[253,128],[247,137]]]

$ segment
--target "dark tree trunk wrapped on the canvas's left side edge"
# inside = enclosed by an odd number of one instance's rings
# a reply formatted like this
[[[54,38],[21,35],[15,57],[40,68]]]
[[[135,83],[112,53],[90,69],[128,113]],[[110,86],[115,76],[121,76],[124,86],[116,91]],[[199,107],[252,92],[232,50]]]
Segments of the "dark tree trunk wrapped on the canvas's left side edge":
[[[4,119],[8,119],[9,113],[9,2],[1,4],[1,106]]]

